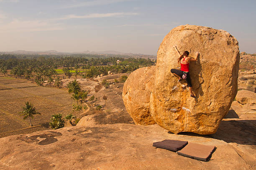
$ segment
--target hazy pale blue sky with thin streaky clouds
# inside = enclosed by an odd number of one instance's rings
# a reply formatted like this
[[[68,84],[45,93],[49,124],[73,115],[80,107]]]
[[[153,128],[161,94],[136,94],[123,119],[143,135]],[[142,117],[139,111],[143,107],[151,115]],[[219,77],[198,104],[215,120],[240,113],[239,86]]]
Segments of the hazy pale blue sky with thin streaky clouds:
[[[256,53],[256,0],[0,0],[0,51],[156,55],[179,25],[228,31]]]

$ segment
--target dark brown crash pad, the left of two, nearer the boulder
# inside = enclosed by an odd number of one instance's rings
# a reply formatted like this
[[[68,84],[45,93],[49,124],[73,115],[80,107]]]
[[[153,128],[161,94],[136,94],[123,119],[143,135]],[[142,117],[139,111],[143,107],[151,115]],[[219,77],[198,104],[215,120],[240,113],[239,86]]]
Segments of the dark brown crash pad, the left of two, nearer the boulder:
[[[153,143],[153,146],[156,148],[163,148],[167,150],[172,150],[177,152],[184,148],[187,145],[187,141],[180,141],[180,140],[163,140],[161,142]]]

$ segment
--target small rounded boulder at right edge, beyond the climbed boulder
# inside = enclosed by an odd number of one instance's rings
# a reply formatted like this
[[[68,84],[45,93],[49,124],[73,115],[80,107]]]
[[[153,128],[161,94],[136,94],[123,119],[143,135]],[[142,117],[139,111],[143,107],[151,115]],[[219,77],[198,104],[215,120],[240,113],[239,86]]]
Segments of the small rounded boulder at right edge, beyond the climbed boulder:
[[[236,95],[236,101],[241,104],[256,104],[256,93],[248,90],[239,90]]]

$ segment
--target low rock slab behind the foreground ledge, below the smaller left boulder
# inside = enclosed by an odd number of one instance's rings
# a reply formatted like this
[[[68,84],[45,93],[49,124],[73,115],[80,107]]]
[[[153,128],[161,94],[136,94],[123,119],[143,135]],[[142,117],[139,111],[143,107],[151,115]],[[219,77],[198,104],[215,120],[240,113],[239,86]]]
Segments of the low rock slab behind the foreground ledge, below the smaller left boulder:
[[[79,120],[77,126],[105,125],[115,123],[134,124],[131,116],[127,112],[110,112],[84,116],[81,118],[81,120]]]

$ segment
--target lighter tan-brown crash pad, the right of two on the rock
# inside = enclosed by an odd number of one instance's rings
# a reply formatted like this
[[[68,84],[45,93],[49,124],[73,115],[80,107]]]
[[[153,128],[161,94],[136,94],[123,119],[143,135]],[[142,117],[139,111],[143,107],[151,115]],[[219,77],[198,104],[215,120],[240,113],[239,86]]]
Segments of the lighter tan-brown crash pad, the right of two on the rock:
[[[188,143],[177,153],[192,159],[208,161],[215,150],[215,146],[200,145],[197,143]]]

